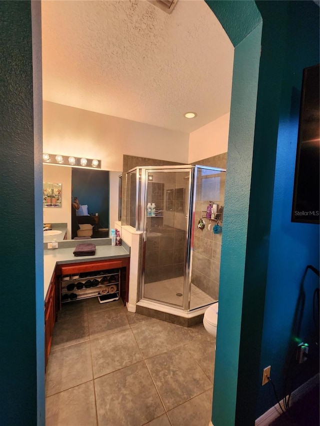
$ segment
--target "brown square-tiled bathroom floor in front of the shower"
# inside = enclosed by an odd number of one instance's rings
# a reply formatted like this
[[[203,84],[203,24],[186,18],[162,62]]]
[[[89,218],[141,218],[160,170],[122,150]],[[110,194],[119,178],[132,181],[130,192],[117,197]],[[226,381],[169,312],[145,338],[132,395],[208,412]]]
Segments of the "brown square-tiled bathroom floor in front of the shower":
[[[122,302],[62,306],[47,366],[46,426],[207,426],[214,340],[127,312]]]

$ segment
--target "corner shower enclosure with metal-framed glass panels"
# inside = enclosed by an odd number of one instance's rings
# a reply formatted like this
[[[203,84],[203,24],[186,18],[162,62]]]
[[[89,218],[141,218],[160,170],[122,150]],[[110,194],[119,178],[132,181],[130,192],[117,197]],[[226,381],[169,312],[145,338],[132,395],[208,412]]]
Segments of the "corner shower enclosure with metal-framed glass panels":
[[[143,232],[139,300],[184,312],[217,301],[224,181],[205,166],[127,172],[126,223]]]

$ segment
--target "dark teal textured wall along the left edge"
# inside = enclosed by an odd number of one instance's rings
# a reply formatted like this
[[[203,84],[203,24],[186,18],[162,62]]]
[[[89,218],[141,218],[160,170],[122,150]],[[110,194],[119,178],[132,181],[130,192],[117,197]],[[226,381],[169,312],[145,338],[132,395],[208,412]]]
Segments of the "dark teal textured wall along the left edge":
[[[41,54],[38,43],[32,66],[30,1],[0,2],[0,52],[0,424],[44,425]]]

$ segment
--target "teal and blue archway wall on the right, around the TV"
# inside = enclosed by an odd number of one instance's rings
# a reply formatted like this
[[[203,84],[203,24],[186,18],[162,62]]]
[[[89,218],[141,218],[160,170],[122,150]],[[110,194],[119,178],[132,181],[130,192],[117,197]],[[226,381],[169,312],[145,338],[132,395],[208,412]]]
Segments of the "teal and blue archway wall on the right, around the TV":
[[[312,340],[310,272],[300,325],[297,307],[306,265],[318,267],[318,226],[291,224],[290,212],[297,91],[302,68],[318,62],[319,17],[312,1],[207,3],[235,46],[212,423],[249,426],[276,403],[262,368],[274,363],[281,388],[296,329]],[[312,374],[306,368],[300,383]]]

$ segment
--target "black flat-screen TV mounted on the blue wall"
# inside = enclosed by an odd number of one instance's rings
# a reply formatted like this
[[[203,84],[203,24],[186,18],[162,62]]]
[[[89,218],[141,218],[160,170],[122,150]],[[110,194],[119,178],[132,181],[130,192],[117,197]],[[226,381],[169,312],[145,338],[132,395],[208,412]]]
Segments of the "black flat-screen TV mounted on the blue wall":
[[[319,223],[319,64],[303,69],[291,222]]]

